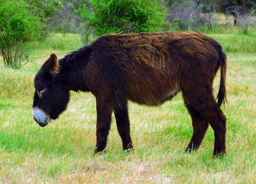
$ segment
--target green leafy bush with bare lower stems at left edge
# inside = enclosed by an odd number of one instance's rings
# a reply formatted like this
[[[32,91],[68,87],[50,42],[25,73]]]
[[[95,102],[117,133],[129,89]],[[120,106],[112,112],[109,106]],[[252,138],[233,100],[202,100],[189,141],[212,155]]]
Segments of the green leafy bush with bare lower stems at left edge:
[[[26,43],[37,40],[43,24],[23,0],[0,0],[0,55],[4,66],[20,68],[28,58]]]

